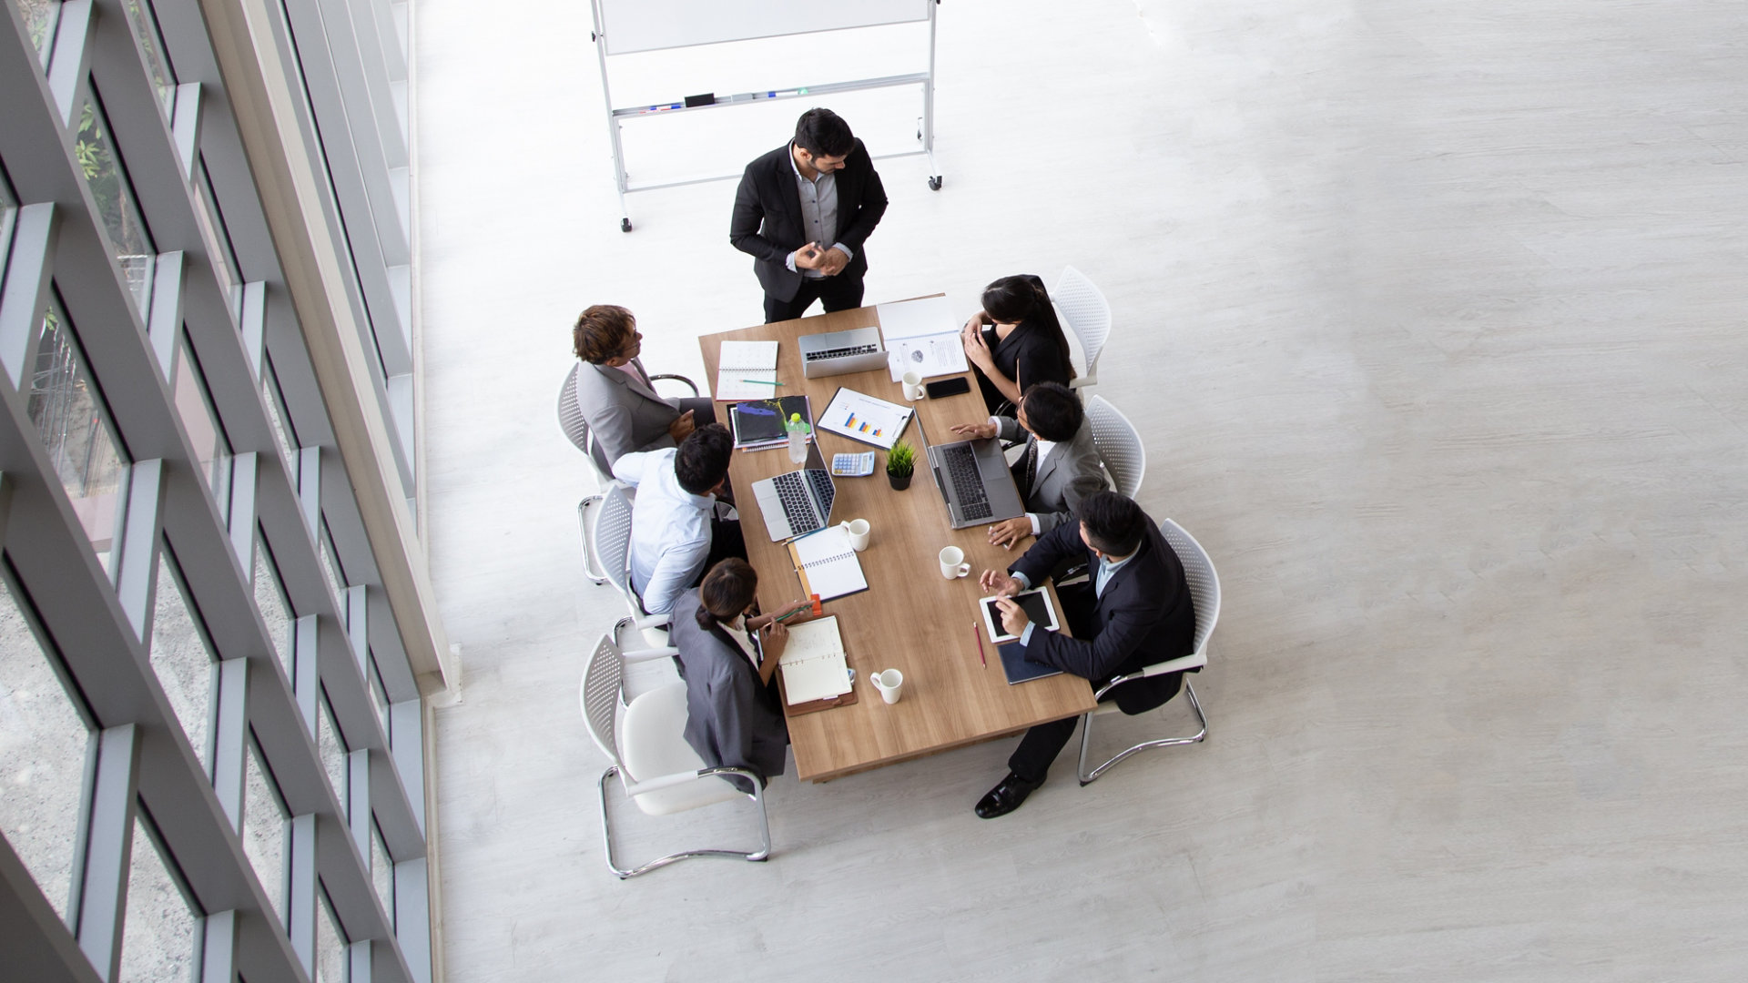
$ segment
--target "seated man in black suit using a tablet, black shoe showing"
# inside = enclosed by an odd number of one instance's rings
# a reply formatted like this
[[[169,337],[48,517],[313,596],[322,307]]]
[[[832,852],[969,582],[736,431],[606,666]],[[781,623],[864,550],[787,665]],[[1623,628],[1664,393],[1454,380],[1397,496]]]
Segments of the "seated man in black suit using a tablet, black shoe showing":
[[[1026,619],[1009,596],[1044,582],[1065,560],[1086,561],[1089,581],[1058,588],[1063,616],[1075,637],[1045,631]],[[1019,635],[1026,658],[1092,680],[1094,689],[1117,675],[1187,656],[1196,642],[1196,609],[1183,563],[1154,519],[1133,498],[1096,492],[1080,500],[1080,523],[1063,523],[1019,558],[1010,574],[984,570],[984,589],[1005,595],[1002,628]],[[1141,714],[1178,694],[1183,673],[1138,679],[1112,689],[1124,714]],[[1044,784],[1051,761],[1075,733],[1077,717],[1026,731],[1007,759],[1009,775],[977,801],[981,819],[1019,808]]]

